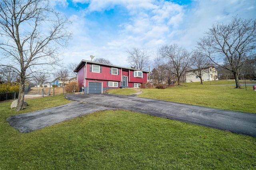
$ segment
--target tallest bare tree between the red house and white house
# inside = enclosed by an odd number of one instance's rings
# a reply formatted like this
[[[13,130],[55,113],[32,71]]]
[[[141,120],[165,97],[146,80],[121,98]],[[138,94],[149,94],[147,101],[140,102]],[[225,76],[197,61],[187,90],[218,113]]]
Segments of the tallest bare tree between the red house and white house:
[[[190,66],[190,53],[183,47],[174,45],[164,45],[159,50],[160,55],[167,60],[168,71],[176,76],[178,80],[178,86],[180,86],[181,78],[184,76],[186,70]]]

